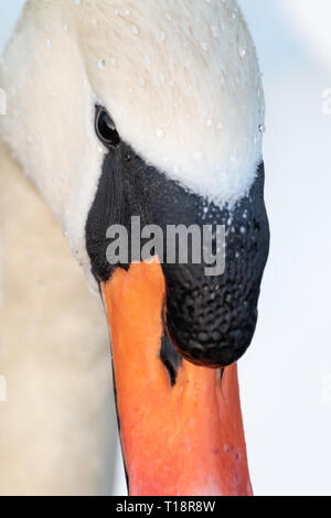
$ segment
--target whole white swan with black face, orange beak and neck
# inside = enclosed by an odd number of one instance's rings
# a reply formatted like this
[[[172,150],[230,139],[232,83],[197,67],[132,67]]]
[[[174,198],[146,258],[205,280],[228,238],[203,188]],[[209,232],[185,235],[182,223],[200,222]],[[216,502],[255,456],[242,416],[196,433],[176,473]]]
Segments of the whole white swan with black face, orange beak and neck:
[[[236,2],[30,0],[0,87],[3,141],[103,291],[130,493],[249,494],[236,369],[223,386],[220,373],[250,343],[268,249],[264,97]],[[100,309],[6,152],[1,195],[0,370],[13,399],[1,408],[0,490],[96,493],[110,434]],[[158,263],[114,272],[107,227],[134,215],[227,225],[232,269],[207,284]],[[179,363],[166,331],[160,359],[166,289],[168,334],[190,361],[218,369]]]

